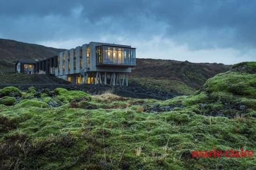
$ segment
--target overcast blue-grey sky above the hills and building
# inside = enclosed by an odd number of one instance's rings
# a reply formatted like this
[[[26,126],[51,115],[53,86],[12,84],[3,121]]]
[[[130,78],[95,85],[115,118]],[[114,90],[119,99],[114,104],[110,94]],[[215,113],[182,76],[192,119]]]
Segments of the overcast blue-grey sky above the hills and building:
[[[137,58],[256,61],[256,0],[0,0],[0,38],[131,45]]]

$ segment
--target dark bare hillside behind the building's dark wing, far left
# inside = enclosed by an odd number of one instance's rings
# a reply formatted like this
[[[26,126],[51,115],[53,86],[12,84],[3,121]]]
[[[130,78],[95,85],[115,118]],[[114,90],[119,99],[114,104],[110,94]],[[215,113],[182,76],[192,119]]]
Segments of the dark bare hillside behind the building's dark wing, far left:
[[[15,62],[17,59],[46,59],[65,49],[0,39],[0,59]]]

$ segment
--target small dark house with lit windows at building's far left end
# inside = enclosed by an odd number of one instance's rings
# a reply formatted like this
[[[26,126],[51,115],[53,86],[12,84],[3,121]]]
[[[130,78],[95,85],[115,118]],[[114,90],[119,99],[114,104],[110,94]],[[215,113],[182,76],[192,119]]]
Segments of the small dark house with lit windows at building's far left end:
[[[34,74],[34,65],[37,61],[33,59],[19,59],[15,64],[16,72]]]

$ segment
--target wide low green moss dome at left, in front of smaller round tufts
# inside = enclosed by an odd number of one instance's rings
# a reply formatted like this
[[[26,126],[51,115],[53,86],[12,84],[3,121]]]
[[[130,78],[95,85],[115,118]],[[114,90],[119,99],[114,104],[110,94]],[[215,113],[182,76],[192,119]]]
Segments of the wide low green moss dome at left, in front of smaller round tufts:
[[[41,102],[36,99],[24,99],[20,101],[20,103],[16,104],[14,106],[16,109],[18,108],[29,108],[29,107],[40,107],[40,108],[46,108],[49,107],[45,102]]]

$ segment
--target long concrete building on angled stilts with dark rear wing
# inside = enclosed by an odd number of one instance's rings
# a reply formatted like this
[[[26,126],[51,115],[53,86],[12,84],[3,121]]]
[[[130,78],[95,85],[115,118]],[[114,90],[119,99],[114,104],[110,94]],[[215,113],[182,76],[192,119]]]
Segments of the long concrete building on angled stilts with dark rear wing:
[[[135,48],[90,42],[34,63],[34,73],[54,74],[73,84],[128,85]]]

